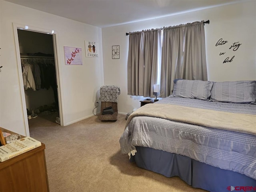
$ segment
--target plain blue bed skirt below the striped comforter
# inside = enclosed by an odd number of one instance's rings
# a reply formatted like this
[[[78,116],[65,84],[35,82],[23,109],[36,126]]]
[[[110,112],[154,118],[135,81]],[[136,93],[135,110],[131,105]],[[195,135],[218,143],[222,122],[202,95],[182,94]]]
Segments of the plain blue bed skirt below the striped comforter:
[[[238,172],[223,170],[162,150],[138,146],[136,150],[130,162],[136,162],[138,167],[166,177],[178,176],[194,188],[210,192],[230,191],[232,187],[239,191],[256,191],[256,180]]]

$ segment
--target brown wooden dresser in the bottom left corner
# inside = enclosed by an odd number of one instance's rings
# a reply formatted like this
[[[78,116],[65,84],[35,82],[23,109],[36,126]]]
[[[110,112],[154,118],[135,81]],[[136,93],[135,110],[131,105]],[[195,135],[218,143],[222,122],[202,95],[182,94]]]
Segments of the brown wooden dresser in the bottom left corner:
[[[0,162],[0,192],[49,192],[45,145]]]

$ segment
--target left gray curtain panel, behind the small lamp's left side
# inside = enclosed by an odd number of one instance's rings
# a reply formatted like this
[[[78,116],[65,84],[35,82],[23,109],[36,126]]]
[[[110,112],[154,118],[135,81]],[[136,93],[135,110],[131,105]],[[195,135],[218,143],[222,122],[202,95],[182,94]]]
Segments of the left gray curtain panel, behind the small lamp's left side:
[[[157,83],[161,29],[129,34],[128,94],[154,97]]]

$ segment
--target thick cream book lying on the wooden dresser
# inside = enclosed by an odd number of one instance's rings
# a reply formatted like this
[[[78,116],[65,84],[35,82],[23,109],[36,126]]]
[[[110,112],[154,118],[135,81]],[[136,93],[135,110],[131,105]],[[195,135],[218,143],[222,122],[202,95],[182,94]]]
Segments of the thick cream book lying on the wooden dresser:
[[[34,138],[24,137],[20,140],[0,146],[0,162],[16,157],[41,145],[41,142]]]

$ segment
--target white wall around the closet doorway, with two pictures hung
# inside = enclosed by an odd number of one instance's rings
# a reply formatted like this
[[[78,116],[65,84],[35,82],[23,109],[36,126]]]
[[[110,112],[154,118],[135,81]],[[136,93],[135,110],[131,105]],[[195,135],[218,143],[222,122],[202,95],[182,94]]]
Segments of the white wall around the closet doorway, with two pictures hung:
[[[0,126],[22,135],[27,118],[23,114],[14,31],[12,23],[54,30],[58,34],[58,70],[64,125],[92,116],[98,90],[104,84],[101,28],[0,0]],[[100,58],[86,58],[84,41],[99,42]],[[65,65],[64,46],[82,48],[83,65]],[[24,95],[23,95],[24,96]],[[23,116],[25,115],[25,116]]]

